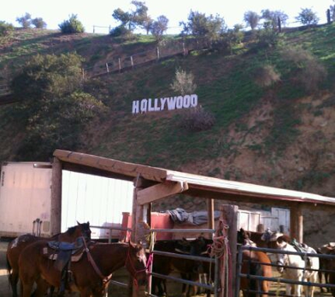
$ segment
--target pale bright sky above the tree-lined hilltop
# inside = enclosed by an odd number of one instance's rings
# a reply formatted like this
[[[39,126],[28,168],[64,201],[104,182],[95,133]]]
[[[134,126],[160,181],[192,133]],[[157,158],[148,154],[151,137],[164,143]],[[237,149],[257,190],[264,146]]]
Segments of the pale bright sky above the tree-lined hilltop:
[[[295,22],[295,17],[301,11],[301,8],[312,8],[320,18],[320,23],[326,22],[326,11],[334,0],[146,0],[145,4],[149,8],[149,14],[152,18],[158,15],[166,15],[169,18],[169,33],[174,30],[180,31],[178,24],[181,20],[187,20],[190,10],[200,11],[207,15],[219,13],[224,18],[226,24],[232,27],[236,23],[243,23],[245,11],[255,11],[260,13],[262,9],[281,10],[288,16],[288,22]],[[77,14],[78,19],[85,26],[86,32],[93,31],[93,25],[101,27],[114,27],[117,25],[111,14],[114,9],[122,8],[128,11],[132,6],[130,0],[11,0],[2,6],[0,10],[0,20],[4,20],[13,25],[16,18],[24,15],[26,12],[32,15],[32,18],[43,18],[49,29],[59,29],[58,25],[67,20],[69,15]],[[293,25],[293,24],[292,24]],[[108,32],[107,28],[97,28],[100,32]]]

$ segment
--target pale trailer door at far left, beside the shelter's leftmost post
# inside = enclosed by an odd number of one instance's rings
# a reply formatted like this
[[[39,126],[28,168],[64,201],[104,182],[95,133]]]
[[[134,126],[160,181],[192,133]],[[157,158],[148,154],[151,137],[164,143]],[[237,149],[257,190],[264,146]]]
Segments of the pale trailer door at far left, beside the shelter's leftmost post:
[[[37,219],[40,235],[50,235],[51,175],[50,163],[1,164],[0,236],[31,233]]]

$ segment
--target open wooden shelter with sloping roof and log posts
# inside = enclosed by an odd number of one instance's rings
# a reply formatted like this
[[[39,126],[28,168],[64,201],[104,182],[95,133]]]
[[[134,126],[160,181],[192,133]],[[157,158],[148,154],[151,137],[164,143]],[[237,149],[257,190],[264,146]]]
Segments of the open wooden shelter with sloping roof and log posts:
[[[139,222],[150,225],[151,203],[175,194],[187,194],[207,199],[209,228],[214,229],[214,199],[226,204],[239,202],[264,203],[270,206],[284,206],[291,210],[291,236],[303,241],[303,208],[335,206],[335,198],[310,194],[301,191],[265,187],[244,182],[234,182],[214,177],[205,177],[185,172],[155,168],[147,165],[122,162],[111,158],[102,158],[73,151],[54,151],[53,195],[54,210],[60,209],[61,170],[73,170],[104,177],[134,180],[133,195],[133,232],[132,239],[140,237]],[[222,207],[221,211],[236,213],[233,206]],[[59,213],[59,222],[60,222]],[[234,215],[230,215],[233,217]],[[56,220],[56,219],[55,219]],[[55,223],[55,222],[54,222]],[[231,220],[231,224],[233,220]],[[51,224],[55,226],[56,224]],[[229,236],[236,243],[236,225],[230,227]],[[235,240],[234,240],[235,239]],[[231,253],[236,246],[231,246]]]

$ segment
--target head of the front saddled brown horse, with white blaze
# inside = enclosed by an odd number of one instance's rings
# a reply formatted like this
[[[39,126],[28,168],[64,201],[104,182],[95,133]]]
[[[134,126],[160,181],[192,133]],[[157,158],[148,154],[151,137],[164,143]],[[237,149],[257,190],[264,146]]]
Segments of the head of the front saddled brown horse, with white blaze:
[[[147,282],[147,257],[142,244],[131,244],[129,242],[126,268],[136,282],[142,286]]]

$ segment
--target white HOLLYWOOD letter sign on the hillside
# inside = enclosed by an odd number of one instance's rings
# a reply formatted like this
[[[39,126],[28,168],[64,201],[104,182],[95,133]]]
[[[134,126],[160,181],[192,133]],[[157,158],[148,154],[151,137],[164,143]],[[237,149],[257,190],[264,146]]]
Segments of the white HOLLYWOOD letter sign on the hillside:
[[[197,94],[173,96],[156,99],[134,100],[132,113],[147,113],[151,111],[175,110],[197,106]]]

